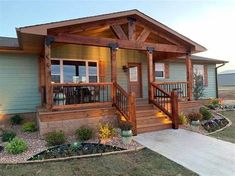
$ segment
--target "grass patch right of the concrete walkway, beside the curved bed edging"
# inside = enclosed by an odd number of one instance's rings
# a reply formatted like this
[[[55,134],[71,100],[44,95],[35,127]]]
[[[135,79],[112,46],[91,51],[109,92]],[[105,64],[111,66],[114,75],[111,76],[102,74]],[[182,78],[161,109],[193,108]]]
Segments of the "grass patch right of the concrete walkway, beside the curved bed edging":
[[[235,111],[226,111],[222,112],[222,114],[232,121],[232,125],[228,128],[225,128],[223,131],[217,132],[210,136],[235,143]]]

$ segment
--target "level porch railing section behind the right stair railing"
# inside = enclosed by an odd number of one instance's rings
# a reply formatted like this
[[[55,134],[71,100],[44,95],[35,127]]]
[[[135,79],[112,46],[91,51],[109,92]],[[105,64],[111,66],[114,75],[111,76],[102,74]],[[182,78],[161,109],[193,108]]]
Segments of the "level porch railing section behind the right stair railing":
[[[187,82],[157,82],[156,84],[168,93],[175,91],[179,98],[187,99]]]

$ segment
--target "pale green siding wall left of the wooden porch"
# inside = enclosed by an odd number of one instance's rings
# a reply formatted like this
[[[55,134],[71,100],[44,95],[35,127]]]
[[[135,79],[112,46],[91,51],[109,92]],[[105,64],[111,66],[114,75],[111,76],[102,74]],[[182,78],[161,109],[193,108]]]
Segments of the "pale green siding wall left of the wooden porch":
[[[37,58],[0,54],[0,114],[35,112],[40,105]]]

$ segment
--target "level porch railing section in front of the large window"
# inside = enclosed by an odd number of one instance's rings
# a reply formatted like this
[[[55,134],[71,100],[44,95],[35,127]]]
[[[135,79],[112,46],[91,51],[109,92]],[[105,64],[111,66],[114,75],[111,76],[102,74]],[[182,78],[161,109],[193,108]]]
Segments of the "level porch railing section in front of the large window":
[[[112,83],[52,83],[53,106],[112,102]]]

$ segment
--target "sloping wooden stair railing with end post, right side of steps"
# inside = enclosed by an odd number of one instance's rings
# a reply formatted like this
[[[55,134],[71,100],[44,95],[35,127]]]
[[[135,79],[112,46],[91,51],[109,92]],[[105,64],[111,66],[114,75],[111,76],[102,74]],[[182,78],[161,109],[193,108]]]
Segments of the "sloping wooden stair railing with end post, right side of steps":
[[[168,93],[156,83],[151,83],[151,89],[153,93],[151,102],[171,118],[173,128],[177,129],[179,126],[178,93],[176,91]]]

